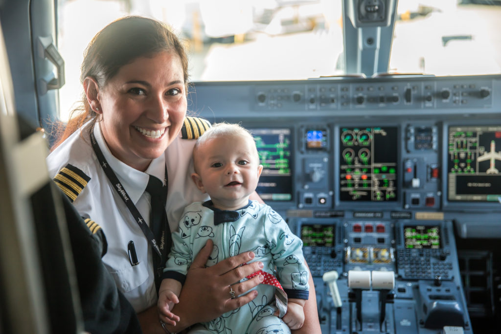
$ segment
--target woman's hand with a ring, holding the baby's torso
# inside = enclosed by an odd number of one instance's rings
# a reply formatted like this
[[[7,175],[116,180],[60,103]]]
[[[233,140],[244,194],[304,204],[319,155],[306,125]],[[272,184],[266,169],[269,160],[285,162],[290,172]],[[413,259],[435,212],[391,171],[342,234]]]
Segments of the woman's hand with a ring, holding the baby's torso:
[[[184,329],[197,322],[210,321],[225,312],[245,305],[258,295],[256,290],[246,292],[260,284],[264,279],[263,275],[256,275],[249,280],[237,283],[240,279],[263,268],[261,261],[239,266],[254,259],[253,252],[235,255],[206,268],[205,263],[211,251],[212,240],[208,240],[188,270],[186,281],[179,295],[179,303],[172,310],[180,317],[176,330]],[[231,298],[231,289],[234,291],[235,298]],[[240,294],[244,295],[236,297]]]

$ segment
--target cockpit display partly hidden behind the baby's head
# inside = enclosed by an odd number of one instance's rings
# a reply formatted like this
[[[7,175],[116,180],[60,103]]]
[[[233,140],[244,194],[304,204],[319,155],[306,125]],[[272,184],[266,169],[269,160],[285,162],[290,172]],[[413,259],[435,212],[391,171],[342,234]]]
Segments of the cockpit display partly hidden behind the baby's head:
[[[256,140],[263,172],[256,191],[264,201],[292,200],[291,129],[249,129]]]

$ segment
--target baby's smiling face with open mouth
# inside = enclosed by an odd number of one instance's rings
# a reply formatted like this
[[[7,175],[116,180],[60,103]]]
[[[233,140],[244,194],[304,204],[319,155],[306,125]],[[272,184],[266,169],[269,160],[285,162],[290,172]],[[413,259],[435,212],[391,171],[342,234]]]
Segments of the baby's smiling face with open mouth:
[[[200,145],[195,155],[193,180],[216,208],[236,210],[247,204],[263,170],[254,141],[241,136],[217,137]]]

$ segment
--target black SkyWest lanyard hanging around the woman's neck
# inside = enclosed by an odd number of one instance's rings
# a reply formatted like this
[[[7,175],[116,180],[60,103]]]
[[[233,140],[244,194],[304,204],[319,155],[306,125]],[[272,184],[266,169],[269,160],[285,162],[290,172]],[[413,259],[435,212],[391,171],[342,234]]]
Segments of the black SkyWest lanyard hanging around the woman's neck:
[[[99,160],[99,164],[103,168],[106,176],[110,180],[111,184],[117,191],[117,193],[120,195],[120,198],[124,201],[125,205],[129,209],[130,213],[134,217],[134,220],[137,222],[139,227],[144,233],[144,236],[146,239],[148,239],[151,247],[153,250],[160,256],[161,261],[160,263],[165,263],[165,259],[167,257],[167,247],[164,247],[165,245],[165,237],[170,238],[170,229],[168,228],[169,222],[167,220],[167,223],[164,224],[164,226],[161,226],[161,233],[160,233],[160,243],[157,242],[155,239],[155,236],[153,235],[153,232],[151,229],[146,225],[146,222],[144,221],[143,217],[139,213],[139,210],[136,208],[134,203],[132,203],[132,200],[130,199],[129,195],[127,194],[127,191],[125,191],[124,187],[122,186],[122,183],[118,180],[117,176],[113,172],[113,169],[111,169],[110,165],[106,162],[106,159],[104,158],[103,152],[99,148],[99,145],[96,141],[96,138],[94,137],[94,129],[91,129],[90,131],[90,136],[91,136],[91,143],[92,143],[92,148],[94,149],[94,153],[96,153],[97,159]],[[165,166],[165,176],[164,176],[164,197],[165,201],[167,201],[167,189],[168,189],[168,181],[167,181],[167,166]],[[163,200],[163,199],[162,199]],[[166,218],[167,219],[167,218]],[[169,232],[169,235],[165,235],[166,232]],[[158,269],[158,268],[155,268]]]

